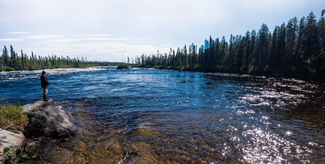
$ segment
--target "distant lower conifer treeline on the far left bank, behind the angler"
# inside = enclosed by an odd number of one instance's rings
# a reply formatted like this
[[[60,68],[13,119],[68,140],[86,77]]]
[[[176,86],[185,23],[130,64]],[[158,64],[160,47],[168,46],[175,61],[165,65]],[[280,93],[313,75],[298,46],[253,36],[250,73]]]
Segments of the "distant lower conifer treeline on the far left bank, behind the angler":
[[[118,66],[120,62],[107,61],[87,61],[87,57],[79,59],[70,58],[69,56],[36,56],[33,54],[28,56],[21,50],[18,55],[10,45],[10,56],[5,46],[0,56],[0,72],[15,70],[37,70],[37,69],[53,69],[53,68],[70,68],[70,67],[90,67],[90,66]]]

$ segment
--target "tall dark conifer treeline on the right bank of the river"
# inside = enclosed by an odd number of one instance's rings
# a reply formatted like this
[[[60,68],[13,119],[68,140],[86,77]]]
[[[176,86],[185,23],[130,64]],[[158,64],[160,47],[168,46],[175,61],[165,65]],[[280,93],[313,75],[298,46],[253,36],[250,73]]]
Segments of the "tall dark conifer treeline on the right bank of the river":
[[[205,40],[168,53],[137,56],[141,67],[228,72],[325,80],[324,17],[313,12],[290,19],[271,32],[266,24],[245,35]]]

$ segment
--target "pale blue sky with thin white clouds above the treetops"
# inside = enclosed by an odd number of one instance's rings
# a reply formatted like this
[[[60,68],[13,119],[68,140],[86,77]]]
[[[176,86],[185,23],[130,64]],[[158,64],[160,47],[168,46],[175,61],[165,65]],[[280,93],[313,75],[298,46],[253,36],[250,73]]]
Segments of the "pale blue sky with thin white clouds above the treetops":
[[[0,45],[16,53],[122,61],[126,56],[200,46],[313,11],[324,0],[0,0]]]

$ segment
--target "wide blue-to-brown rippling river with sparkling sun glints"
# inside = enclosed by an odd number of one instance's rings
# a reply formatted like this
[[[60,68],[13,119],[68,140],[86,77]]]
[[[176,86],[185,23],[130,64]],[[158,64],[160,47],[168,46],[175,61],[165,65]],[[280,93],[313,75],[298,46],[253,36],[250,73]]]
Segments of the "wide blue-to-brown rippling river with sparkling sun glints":
[[[52,163],[324,163],[325,86],[236,74],[46,70],[78,134]],[[0,95],[42,100],[41,71],[0,73]]]

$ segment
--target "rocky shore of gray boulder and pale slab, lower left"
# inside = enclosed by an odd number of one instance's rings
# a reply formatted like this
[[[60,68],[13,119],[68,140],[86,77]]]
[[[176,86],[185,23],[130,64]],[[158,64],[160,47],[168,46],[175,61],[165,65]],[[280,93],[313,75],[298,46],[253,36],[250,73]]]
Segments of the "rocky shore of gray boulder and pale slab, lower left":
[[[66,141],[77,132],[70,111],[63,106],[55,106],[51,99],[24,105],[23,113],[29,118],[25,132],[17,134],[0,129],[0,152],[5,147],[10,147],[14,154],[15,150],[26,144],[31,146],[30,154],[38,152],[36,160],[42,160],[42,156],[46,156],[43,150],[48,143]]]

